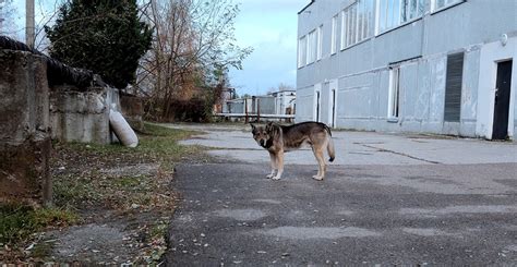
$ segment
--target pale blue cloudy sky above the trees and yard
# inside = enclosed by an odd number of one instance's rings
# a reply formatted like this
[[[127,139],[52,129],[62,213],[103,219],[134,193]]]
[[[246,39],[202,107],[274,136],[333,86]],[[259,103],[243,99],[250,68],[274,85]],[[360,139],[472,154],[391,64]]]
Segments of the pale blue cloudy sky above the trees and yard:
[[[35,0],[38,8],[53,10],[56,0]],[[230,70],[230,83],[239,95],[261,95],[280,83],[296,86],[297,13],[310,0],[235,0],[240,3],[236,37],[241,47],[254,51],[243,62],[243,70]],[[14,0],[16,24],[24,25],[25,0]],[[39,17],[38,17],[39,16]],[[20,39],[24,33],[19,33]]]

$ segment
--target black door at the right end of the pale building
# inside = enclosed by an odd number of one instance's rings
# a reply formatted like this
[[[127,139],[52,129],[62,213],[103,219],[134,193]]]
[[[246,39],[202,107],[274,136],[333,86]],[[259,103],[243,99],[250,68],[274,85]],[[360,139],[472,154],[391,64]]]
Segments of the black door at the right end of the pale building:
[[[512,86],[512,60],[497,63],[495,106],[492,139],[508,137],[509,90]]]

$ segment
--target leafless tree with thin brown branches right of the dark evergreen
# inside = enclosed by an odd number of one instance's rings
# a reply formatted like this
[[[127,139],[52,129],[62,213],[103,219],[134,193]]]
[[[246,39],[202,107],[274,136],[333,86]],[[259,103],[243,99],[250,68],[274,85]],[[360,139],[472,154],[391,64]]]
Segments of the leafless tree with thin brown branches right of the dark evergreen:
[[[153,99],[163,118],[173,99],[227,83],[228,68],[241,69],[252,49],[236,45],[238,12],[232,0],[149,0],[142,7],[155,36],[141,63],[137,88]]]

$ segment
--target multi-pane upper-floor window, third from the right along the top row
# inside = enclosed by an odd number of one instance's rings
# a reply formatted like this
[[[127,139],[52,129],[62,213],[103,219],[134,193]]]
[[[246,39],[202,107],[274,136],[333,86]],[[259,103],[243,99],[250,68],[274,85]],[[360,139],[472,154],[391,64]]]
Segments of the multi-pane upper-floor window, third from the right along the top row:
[[[373,1],[359,0],[341,12],[341,49],[356,45],[371,36]]]

